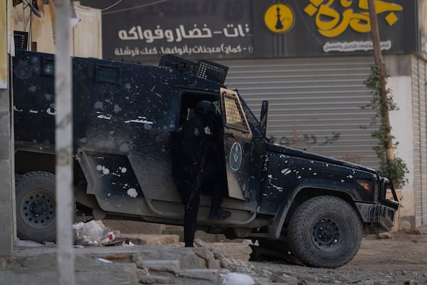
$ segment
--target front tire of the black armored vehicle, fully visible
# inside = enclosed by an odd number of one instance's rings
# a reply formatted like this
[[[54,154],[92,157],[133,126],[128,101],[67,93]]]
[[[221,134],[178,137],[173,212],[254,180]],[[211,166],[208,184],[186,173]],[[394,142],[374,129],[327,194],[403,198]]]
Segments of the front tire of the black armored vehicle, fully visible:
[[[292,214],[288,242],[290,252],[303,264],[337,268],[357,254],[362,242],[362,222],[343,199],[313,197]]]

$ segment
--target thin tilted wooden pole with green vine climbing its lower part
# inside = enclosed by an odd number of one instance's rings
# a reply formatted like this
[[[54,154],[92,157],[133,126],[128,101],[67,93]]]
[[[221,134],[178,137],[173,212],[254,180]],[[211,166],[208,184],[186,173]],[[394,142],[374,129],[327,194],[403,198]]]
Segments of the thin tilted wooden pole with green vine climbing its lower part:
[[[376,66],[379,68],[379,84],[381,87],[381,123],[385,128],[387,140],[384,142],[386,150],[387,164],[391,165],[394,162],[393,139],[391,137],[391,126],[389,118],[389,106],[387,104],[386,91],[386,68],[381,54],[381,42],[379,39],[378,18],[376,16],[375,0],[368,0],[369,20],[371,21],[371,36],[374,45],[374,58]]]

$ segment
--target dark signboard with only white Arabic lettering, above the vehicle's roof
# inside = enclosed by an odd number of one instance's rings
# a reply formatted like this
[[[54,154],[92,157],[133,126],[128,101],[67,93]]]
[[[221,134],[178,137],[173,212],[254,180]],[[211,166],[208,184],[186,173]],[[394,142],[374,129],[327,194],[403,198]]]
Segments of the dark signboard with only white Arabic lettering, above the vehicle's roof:
[[[117,1],[80,1],[105,9]],[[103,58],[157,60],[251,57],[252,2],[247,0],[125,0],[102,11]]]

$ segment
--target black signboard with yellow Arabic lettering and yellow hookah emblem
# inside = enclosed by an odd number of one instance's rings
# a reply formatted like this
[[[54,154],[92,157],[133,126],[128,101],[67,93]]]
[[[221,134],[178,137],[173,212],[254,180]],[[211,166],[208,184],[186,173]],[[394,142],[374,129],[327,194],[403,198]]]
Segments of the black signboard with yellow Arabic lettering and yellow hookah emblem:
[[[375,4],[382,50],[418,51],[416,1],[376,0]],[[253,11],[263,11],[253,17],[254,56],[370,52],[367,5],[367,0],[253,1]]]

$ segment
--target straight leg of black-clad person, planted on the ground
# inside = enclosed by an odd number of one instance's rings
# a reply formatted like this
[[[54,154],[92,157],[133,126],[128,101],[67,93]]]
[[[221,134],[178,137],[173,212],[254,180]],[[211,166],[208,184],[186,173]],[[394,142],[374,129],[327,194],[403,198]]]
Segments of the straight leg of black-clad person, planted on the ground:
[[[200,195],[194,193],[190,200],[192,187],[181,185],[178,188],[181,195],[182,204],[184,204],[184,243],[185,247],[193,247],[194,234],[196,234],[197,214],[199,212]]]

